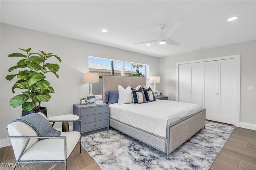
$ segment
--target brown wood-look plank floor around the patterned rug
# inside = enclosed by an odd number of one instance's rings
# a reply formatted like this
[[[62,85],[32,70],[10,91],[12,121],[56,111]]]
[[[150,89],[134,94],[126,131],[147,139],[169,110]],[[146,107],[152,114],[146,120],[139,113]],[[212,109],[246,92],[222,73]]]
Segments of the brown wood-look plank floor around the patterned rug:
[[[222,124],[222,123],[221,123]],[[224,124],[227,125],[227,124]],[[0,163],[15,163],[12,146],[0,149]],[[91,156],[82,148],[79,154],[79,145],[67,162],[68,170],[100,170],[100,167]],[[2,170],[12,169],[1,167]],[[63,170],[64,163],[28,164],[27,168],[17,170]],[[236,127],[220,154],[214,160],[210,170],[256,170],[256,131]]]

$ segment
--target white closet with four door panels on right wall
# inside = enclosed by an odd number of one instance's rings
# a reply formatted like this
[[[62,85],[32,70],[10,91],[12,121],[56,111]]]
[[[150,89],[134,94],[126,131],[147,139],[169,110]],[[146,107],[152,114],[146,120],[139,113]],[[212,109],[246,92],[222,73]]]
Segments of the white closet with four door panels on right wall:
[[[177,63],[177,69],[177,101],[202,106],[208,120],[239,124],[240,55]]]

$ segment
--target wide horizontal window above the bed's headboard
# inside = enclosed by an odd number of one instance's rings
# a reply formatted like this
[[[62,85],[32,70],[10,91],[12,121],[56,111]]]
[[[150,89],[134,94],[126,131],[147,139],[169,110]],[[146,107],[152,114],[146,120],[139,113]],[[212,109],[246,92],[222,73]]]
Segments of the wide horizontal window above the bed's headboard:
[[[146,64],[97,57],[89,57],[88,61],[89,72],[99,73],[99,83],[92,84],[94,95],[102,94],[102,75],[148,76],[149,66]]]

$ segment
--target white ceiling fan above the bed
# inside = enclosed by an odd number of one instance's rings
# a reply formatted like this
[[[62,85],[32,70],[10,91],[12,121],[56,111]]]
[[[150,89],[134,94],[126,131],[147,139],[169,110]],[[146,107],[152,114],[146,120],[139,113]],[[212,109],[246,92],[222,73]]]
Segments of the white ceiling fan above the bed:
[[[166,29],[164,32],[164,28],[165,25],[164,24],[160,24],[158,27],[161,30],[161,35],[159,36],[159,38],[157,40],[151,40],[151,41],[147,41],[147,42],[139,42],[139,43],[149,43],[149,42],[158,42],[158,44],[163,45],[163,44],[169,44],[169,45],[176,45],[179,46],[181,43],[180,42],[176,42],[172,39],[170,39],[170,37],[172,36],[172,34],[174,33],[174,31],[178,28],[178,26],[180,25],[179,21],[174,21],[172,22],[172,24],[169,26],[168,29]],[[138,43],[133,43],[133,44],[138,44]]]

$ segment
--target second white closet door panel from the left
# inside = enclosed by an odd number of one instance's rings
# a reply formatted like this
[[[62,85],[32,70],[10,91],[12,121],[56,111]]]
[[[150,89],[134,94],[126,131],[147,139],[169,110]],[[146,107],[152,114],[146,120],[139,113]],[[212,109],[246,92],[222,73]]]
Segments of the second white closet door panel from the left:
[[[203,106],[203,63],[191,63],[191,100],[190,103]]]

